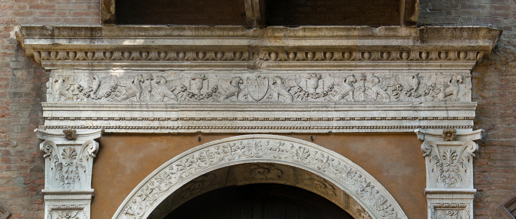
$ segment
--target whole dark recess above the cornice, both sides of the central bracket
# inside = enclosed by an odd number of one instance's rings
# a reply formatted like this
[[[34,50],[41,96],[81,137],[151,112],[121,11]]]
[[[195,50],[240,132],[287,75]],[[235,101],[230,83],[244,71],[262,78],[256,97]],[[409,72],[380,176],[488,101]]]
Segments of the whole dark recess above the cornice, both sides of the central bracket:
[[[259,26],[400,24],[399,0],[261,1],[263,1],[260,4],[261,19],[253,22],[246,18],[244,0],[118,0],[115,4],[115,23],[248,27],[254,24]]]

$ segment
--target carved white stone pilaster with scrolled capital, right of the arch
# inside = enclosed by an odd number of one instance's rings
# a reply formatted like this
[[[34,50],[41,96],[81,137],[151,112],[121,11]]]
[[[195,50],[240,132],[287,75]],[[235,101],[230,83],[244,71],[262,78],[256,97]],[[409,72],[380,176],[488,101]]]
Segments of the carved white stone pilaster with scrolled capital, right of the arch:
[[[426,160],[428,219],[473,218],[473,158],[478,149],[474,141],[482,131],[415,130]]]

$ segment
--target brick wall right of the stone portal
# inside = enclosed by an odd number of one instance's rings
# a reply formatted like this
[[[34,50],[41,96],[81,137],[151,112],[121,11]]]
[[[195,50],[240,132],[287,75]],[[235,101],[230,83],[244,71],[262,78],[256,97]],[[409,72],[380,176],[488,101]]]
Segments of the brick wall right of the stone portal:
[[[491,56],[473,70],[473,98],[478,102],[475,129],[486,130],[474,161],[475,219],[504,218],[496,208],[516,194],[516,2],[421,1],[420,23],[446,20],[504,30]]]

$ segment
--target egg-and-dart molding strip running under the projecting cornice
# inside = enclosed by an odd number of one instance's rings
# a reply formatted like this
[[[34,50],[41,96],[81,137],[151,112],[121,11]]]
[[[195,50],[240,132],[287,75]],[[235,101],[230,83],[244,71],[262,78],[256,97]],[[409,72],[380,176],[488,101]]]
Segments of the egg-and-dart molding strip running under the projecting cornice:
[[[121,51],[37,50],[36,61],[477,61],[481,51]]]

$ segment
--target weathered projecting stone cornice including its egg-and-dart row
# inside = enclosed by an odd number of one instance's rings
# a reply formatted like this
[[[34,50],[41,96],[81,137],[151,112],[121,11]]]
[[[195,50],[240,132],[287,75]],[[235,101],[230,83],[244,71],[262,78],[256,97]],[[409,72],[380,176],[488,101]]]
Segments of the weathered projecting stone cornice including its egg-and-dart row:
[[[21,26],[18,40],[27,56],[34,56],[46,69],[84,69],[87,63],[99,61],[108,63],[95,69],[131,68],[128,62],[141,63],[141,69],[163,69],[169,62],[178,69],[187,68],[182,65],[189,62],[208,69],[228,69],[228,64],[232,69],[249,69],[263,67],[256,66],[259,60],[265,61],[268,69],[295,69],[292,62],[307,63],[307,69],[372,69],[368,63],[375,62],[386,63],[387,69],[399,69],[398,62],[425,66],[459,63],[471,69],[490,53],[501,32],[488,27],[248,30],[238,26],[26,25]],[[420,64],[411,68],[417,66]]]

